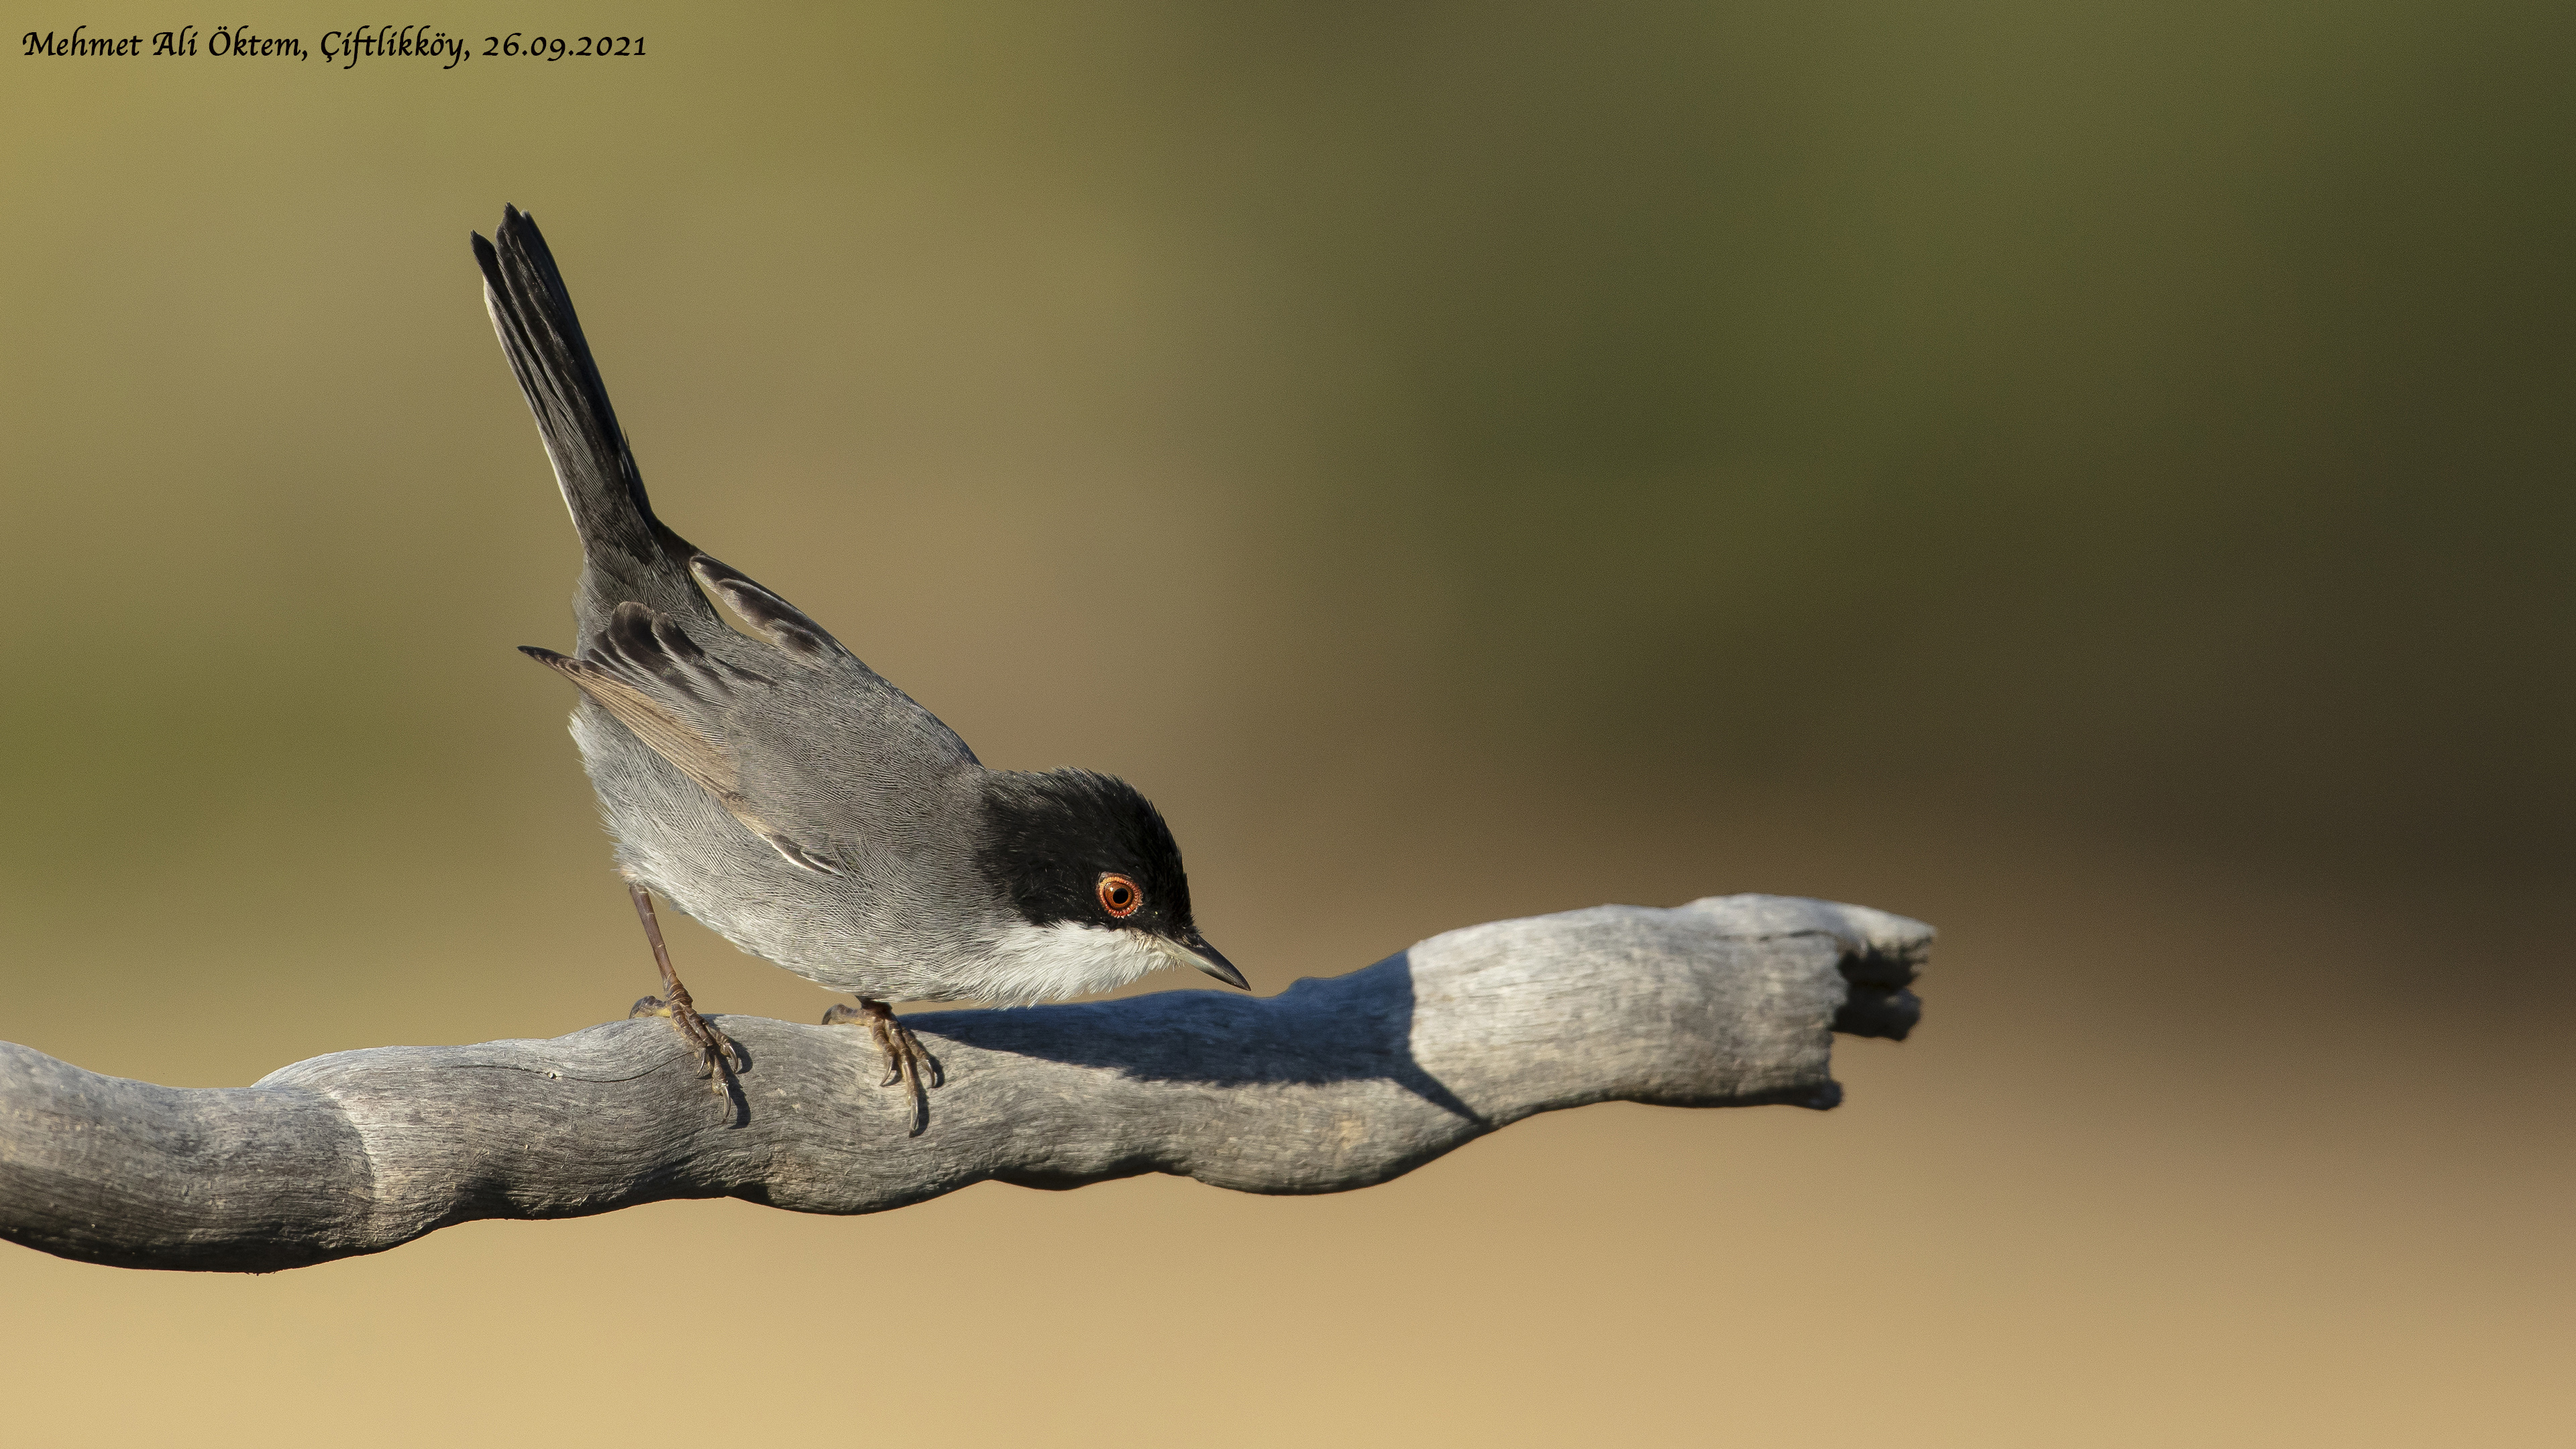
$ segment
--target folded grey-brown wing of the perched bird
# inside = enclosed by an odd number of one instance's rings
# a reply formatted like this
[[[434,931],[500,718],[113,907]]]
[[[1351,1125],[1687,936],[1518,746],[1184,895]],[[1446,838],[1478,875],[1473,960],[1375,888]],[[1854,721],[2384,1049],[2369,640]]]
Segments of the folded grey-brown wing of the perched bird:
[[[742,642],[716,657],[672,616],[626,601],[577,655],[523,652],[577,683],[788,864],[848,874],[863,797],[976,763],[948,724],[801,608],[706,554],[690,572],[770,650]]]

